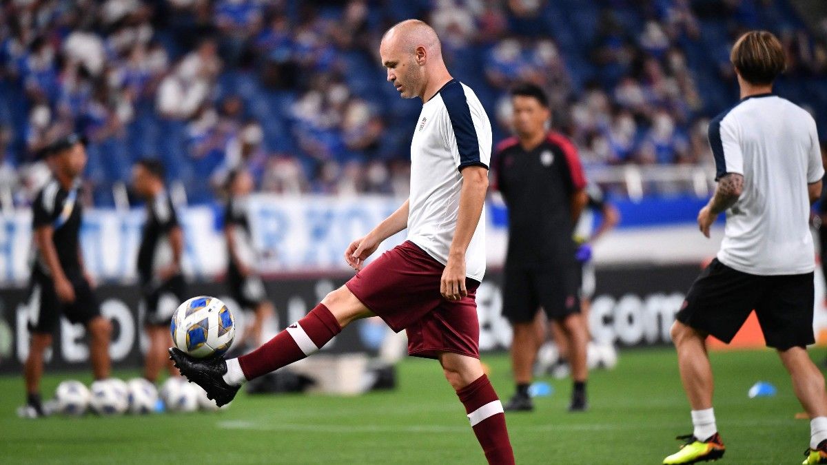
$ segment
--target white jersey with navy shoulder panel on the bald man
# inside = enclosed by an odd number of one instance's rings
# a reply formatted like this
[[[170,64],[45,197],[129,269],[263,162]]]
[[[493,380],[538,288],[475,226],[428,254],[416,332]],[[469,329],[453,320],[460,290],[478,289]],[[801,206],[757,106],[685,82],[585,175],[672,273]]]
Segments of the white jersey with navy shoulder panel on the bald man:
[[[491,124],[480,100],[452,79],[419,113],[411,141],[408,240],[447,264],[457,230],[462,175],[467,166],[486,169],[491,158]],[[485,209],[466,250],[466,276],[485,275]]]

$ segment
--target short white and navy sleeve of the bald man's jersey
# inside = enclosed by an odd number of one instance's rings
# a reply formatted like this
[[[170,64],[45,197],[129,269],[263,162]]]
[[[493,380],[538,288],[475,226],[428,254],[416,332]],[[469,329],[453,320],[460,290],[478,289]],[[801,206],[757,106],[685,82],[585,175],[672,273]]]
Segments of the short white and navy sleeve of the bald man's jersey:
[[[440,92],[445,114],[440,127],[454,155],[457,170],[466,166],[488,169],[491,160],[490,123],[476,98],[466,97],[458,81],[446,84]]]

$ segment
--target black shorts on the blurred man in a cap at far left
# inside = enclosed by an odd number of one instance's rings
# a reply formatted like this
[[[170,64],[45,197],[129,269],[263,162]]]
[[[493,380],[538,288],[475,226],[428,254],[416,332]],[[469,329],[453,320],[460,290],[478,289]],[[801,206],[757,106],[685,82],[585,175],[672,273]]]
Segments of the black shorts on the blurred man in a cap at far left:
[[[54,333],[60,315],[71,323],[87,324],[101,314],[98,298],[80,273],[67,273],[74,288],[74,302],[61,301],[55,292],[55,281],[35,266],[31,271],[28,306],[28,328],[32,333]]]

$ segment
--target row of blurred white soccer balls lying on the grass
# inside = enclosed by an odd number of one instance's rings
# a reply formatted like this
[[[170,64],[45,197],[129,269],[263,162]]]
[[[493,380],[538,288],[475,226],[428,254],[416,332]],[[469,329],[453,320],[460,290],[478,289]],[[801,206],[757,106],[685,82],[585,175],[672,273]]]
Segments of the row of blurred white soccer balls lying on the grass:
[[[222,409],[227,408],[225,405]],[[64,415],[150,414],[160,411],[194,412],[219,410],[201,387],[184,378],[170,377],[160,391],[144,378],[94,381],[88,388],[80,381],[63,381],[55,392],[55,409]]]

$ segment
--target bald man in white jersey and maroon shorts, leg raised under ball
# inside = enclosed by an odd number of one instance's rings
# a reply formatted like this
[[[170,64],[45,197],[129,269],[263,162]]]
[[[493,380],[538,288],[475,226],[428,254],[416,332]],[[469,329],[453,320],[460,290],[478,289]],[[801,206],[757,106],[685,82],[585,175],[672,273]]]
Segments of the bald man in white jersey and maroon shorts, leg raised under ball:
[[[478,348],[490,122],[474,92],[448,73],[437,34],[424,22],[391,27],[380,56],[388,81],[403,98],[421,98],[423,108],[411,141],[409,199],[347,247],[356,276],[245,356],[202,360],[175,348],[170,355],[184,376],[224,405],[245,381],[316,352],[356,319],[378,315],[408,333],[410,355],[440,362],[488,463],[514,463],[503,406]],[[382,241],[405,228],[406,242],[364,266]]]

